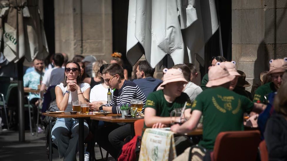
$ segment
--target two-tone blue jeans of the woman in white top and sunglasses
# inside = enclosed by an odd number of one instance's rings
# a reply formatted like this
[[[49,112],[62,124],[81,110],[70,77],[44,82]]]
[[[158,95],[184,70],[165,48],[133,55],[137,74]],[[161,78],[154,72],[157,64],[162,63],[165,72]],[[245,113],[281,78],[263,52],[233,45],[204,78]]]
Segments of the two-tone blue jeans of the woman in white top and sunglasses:
[[[89,134],[89,126],[84,122],[84,138]],[[58,118],[52,128],[52,140],[58,146],[60,158],[76,160],[79,151],[79,121],[74,118]]]

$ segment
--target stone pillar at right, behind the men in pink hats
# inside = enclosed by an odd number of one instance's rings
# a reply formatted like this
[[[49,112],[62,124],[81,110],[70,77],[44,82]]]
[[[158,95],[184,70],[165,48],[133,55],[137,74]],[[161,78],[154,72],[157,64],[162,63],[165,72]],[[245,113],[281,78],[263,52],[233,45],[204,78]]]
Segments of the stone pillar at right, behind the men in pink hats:
[[[259,74],[269,69],[269,60],[287,56],[286,8],[286,0],[276,0],[274,28],[274,1],[232,0],[232,60],[251,85],[259,83]]]

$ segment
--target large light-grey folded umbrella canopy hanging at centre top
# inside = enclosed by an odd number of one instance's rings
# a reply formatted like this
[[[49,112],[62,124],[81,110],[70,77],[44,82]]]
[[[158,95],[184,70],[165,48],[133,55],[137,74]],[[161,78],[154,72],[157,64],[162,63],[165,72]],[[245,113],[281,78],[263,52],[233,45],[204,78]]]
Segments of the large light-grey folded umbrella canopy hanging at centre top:
[[[180,64],[197,53],[204,65],[204,45],[217,28],[214,0],[129,1],[126,56],[135,65],[145,54],[154,68],[166,54]]]

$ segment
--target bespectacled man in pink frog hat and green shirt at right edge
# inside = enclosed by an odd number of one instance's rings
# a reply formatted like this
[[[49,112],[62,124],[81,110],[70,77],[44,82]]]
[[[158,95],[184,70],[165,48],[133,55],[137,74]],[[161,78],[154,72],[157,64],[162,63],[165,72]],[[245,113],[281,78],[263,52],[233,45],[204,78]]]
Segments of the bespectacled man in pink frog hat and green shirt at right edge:
[[[269,93],[276,92],[282,83],[282,75],[287,70],[287,57],[284,59],[270,60],[270,68],[267,74],[272,77],[272,82],[266,83],[255,91],[253,102],[263,103],[265,102],[264,96]]]

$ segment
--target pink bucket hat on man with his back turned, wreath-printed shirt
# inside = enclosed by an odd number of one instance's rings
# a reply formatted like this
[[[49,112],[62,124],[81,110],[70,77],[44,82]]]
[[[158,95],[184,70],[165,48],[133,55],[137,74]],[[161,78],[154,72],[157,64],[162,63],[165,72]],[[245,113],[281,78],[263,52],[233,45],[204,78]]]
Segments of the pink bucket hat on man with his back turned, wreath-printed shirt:
[[[234,78],[235,76],[230,75],[225,67],[216,65],[211,67],[208,71],[208,82],[206,87],[219,86],[231,82]]]

